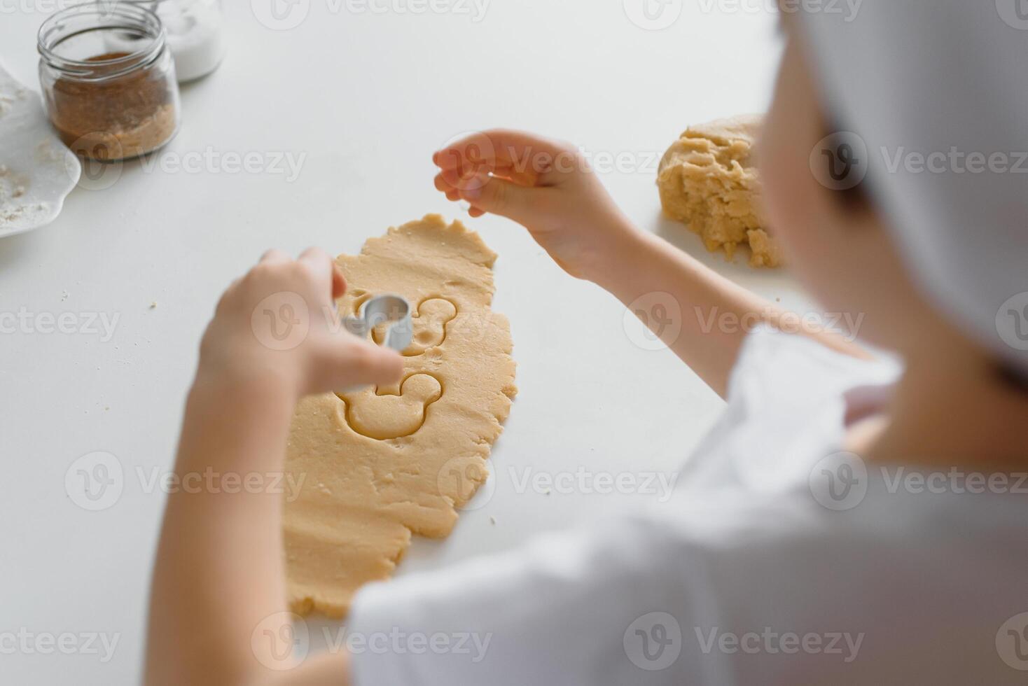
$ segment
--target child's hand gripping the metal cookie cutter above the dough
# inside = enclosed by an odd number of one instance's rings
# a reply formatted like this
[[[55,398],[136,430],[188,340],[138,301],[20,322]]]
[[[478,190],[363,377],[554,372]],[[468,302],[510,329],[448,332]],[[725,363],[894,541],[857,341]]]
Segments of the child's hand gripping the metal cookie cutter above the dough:
[[[271,380],[297,397],[396,382],[400,355],[342,328],[334,299],[345,290],[324,251],[309,249],[296,260],[268,251],[218,303],[200,344],[197,379]]]

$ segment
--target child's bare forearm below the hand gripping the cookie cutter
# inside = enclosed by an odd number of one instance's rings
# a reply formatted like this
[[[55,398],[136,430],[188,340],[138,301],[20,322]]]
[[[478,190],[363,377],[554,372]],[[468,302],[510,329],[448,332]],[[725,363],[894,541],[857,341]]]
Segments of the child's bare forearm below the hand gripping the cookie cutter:
[[[147,684],[274,683],[251,637],[287,609],[279,474],[294,402],[272,378],[198,378],[190,392],[180,486],[169,497],[154,570]],[[283,676],[342,684],[344,666],[330,671],[334,681]]]

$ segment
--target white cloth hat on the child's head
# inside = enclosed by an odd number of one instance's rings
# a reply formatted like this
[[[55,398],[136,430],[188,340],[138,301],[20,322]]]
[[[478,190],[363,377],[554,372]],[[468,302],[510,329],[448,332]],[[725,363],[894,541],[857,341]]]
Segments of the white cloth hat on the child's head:
[[[871,195],[916,280],[1028,372],[1028,0],[800,14],[828,114],[866,144]],[[910,153],[947,159],[918,170]],[[969,170],[983,157],[986,169]]]

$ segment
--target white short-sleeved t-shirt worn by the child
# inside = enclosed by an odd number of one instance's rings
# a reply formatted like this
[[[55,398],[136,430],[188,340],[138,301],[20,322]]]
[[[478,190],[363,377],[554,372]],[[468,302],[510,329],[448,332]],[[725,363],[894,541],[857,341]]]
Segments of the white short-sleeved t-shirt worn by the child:
[[[357,686],[1025,683],[1028,484],[839,452],[897,373],[758,330],[672,501],[366,586]]]

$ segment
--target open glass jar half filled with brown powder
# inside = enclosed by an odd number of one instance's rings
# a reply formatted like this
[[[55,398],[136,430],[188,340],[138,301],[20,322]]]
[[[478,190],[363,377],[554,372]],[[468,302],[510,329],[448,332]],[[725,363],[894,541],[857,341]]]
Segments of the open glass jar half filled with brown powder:
[[[111,50],[112,40],[132,50]],[[145,155],[179,127],[175,64],[157,15],[135,3],[89,2],[39,28],[39,82],[61,140],[76,153],[113,161]]]

